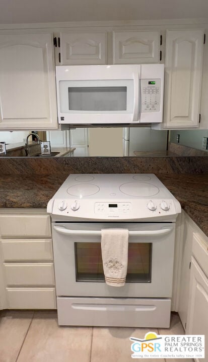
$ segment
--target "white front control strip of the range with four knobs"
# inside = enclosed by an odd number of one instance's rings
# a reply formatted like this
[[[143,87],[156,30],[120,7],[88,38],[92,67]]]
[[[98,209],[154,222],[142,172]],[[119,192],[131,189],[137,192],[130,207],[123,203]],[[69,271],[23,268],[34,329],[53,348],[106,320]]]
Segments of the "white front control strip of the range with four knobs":
[[[50,209],[49,209],[50,208]],[[108,201],[83,199],[56,199],[48,203],[48,212],[66,220],[175,220],[181,212],[180,204],[173,199],[138,199]],[[59,221],[59,219],[56,219]]]

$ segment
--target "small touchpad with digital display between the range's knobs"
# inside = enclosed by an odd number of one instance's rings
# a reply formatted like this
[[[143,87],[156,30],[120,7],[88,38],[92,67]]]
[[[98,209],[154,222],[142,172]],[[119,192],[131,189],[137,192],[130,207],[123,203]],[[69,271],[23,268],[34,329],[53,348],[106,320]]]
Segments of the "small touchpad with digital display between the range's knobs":
[[[95,203],[95,213],[96,214],[127,214],[131,211],[131,203],[128,202],[97,202]]]

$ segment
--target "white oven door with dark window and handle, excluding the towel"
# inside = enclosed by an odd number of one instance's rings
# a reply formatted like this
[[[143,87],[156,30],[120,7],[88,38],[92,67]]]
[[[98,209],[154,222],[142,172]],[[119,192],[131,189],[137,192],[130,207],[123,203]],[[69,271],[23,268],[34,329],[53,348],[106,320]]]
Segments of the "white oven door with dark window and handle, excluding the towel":
[[[101,229],[129,231],[126,284],[105,283]],[[57,296],[170,298],[174,260],[173,223],[53,223]]]

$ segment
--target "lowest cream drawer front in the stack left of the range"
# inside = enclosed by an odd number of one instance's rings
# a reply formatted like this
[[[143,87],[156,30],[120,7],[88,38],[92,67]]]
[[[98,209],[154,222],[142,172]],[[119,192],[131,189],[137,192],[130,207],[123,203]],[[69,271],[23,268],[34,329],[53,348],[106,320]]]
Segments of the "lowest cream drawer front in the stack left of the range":
[[[56,309],[55,288],[7,288],[10,309]]]

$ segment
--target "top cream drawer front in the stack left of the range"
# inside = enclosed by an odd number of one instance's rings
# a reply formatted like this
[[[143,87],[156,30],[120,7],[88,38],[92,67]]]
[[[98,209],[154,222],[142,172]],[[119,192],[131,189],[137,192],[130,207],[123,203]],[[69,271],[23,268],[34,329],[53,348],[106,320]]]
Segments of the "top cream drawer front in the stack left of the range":
[[[51,236],[49,215],[0,215],[0,236]]]

